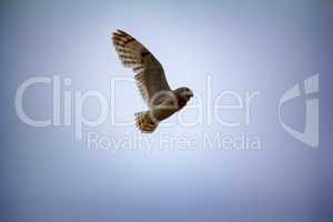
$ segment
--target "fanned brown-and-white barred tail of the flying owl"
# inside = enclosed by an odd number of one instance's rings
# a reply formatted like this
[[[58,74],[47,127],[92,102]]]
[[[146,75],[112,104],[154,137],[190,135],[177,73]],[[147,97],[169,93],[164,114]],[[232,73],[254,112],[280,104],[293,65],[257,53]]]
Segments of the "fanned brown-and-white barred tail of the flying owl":
[[[137,112],[134,115],[137,127],[143,133],[152,133],[159,125],[158,121],[154,121],[153,117],[151,117],[150,111]]]

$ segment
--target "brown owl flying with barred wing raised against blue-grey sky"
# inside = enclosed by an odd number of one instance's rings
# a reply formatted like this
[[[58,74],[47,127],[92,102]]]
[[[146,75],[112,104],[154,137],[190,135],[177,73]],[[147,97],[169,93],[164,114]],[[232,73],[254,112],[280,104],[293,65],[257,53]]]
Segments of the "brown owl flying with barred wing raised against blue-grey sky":
[[[149,107],[134,114],[137,127],[141,132],[151,133],[162,120],[185,107],[193,92],[186,87],[171,90],[162,64],[130,34],[117,30],[112,41],[122,64],[137,73],[139,91]]]

